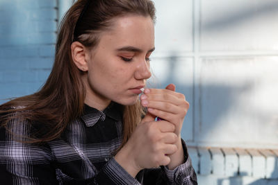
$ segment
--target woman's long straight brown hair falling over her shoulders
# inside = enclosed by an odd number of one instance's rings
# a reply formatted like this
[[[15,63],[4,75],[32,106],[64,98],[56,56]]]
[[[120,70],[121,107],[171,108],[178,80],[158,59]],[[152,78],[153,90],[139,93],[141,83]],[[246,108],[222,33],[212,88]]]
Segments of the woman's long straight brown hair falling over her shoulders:
[[[79,0],[67,11],[58,29],[55,61],[43,87],[29,96],[10,100],[0,105],[1,126],[7,127],[12,118],[23,118],[38,125],[39,137],[31,136],[28,143],[51,141],[58,138],[67,124],[81,116],[85,100],[84,75],[72,60],[72,42],[81,42],[93,48],[99,42],[99,33],[112,25],[113,18],[124,15],[149,16],[155,21],[151,0]],[[140,122],[142,107],[124,107],[123,144]]]

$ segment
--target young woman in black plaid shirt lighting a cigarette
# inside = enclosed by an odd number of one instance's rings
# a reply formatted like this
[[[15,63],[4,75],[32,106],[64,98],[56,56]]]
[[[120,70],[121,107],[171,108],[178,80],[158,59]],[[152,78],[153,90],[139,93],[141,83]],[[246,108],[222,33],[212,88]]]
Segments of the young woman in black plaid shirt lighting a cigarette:
[[[139,99],[154,21],[150,0],[74,3],[45,85],[0,106],[1,183],[197,184],[185,97],[168,85]]]

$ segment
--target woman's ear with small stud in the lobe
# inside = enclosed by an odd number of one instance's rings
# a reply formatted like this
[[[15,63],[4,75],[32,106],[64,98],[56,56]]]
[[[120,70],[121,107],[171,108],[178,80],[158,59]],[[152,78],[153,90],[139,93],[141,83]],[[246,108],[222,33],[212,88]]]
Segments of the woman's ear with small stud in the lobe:
[[[85,46],[80,42],[72,42],[70,49],[72,51],[72,60],[74,61],[74,64],[76,64],[76,67],[81,71],[88,71],[88,62],[85,57]]]

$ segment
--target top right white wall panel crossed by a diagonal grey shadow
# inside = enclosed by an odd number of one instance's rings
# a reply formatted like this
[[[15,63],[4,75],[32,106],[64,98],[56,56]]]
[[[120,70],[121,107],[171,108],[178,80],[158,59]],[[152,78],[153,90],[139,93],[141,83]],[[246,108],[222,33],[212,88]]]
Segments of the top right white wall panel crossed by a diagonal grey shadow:
[[[277,0],[204,0],[199,6],[201,51],[278,49]]]

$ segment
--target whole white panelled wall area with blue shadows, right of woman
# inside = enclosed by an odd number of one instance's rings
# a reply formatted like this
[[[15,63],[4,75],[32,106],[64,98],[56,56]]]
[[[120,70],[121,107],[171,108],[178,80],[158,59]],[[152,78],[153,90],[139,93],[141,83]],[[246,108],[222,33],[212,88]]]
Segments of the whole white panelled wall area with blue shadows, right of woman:
[[[154,2],[155,82],[186,95],[188,144],[278,148],[278,1]]]

